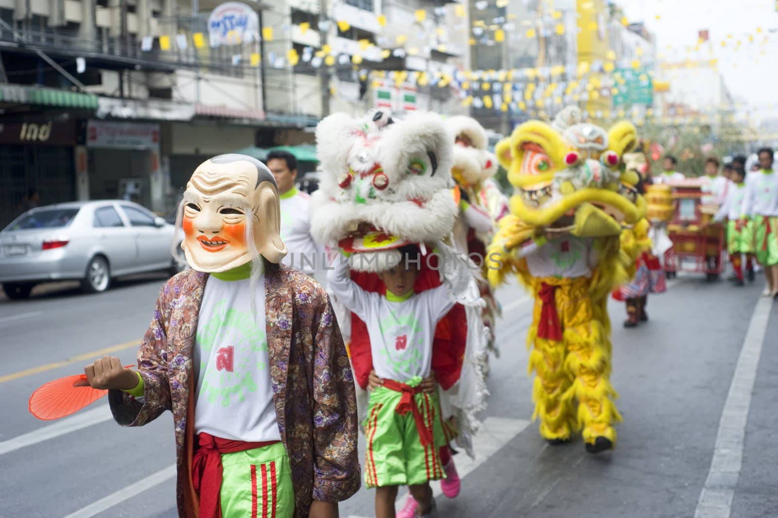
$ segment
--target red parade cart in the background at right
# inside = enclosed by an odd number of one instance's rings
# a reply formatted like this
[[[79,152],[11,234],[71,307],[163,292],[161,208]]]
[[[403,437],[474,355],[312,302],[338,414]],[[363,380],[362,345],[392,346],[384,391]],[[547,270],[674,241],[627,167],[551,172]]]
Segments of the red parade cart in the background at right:
[[[668,182],[675,212],[668,222],[673,247],[664,254],[669,276],[678,271],[705,273],[715,281],[724,271],[724,226],[713,222],[717,205],[703,205],[705,180]]]

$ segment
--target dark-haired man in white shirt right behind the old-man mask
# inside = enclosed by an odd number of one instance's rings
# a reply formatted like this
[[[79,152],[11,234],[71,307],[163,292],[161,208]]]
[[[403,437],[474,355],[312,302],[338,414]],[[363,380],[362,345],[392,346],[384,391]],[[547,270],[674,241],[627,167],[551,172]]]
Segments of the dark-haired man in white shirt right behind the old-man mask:
[[[279,186],[281,239],[289,250],[283,262],[307,275],[314,275],[322,268],[324,250],[310,235],[310,195],[298,191],[295,186],[297,159],[290,152],[271,151],[265,163]]]

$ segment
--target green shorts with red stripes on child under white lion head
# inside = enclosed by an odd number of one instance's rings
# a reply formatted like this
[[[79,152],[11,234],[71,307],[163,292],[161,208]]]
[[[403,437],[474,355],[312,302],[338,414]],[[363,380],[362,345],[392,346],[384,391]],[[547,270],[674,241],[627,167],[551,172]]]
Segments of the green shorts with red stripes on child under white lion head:
[[[419,384],[408,383],[414,387]],[[440,446],[447,444],[440,418],[437,393],[415,394],[422,422],[432,432],[433,443],[422,446],[413,412],[395,411],[401,392],[378,387],[370,392],[367,418],[364,422],[367,452],[365,485],[368,488],[387,485],[420,485],[445,478],[440,462]]]

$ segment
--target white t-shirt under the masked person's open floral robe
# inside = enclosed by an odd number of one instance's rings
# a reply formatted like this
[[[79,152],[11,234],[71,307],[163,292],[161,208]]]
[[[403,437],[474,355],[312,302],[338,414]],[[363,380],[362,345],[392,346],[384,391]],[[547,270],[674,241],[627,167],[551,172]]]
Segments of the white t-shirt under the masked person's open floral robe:
[[[195,433],[280,440],[265,335],[265,276],[252,294],[248,278],[222,280],[216,275],[205,283],[198,317]]]

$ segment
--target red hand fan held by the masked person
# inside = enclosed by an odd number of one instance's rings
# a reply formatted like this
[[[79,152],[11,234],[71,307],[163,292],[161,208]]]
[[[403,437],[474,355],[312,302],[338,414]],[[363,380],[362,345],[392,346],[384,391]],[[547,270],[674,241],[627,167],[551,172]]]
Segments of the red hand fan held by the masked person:
[[[131,367],[134,365],[124,366],[125,369]],[[30,396],[27,408],[35,417],[51,421],[75,414],[105,394],[108,394],[107,390],[89,387],[89,383],[86,382],[86,374],[75,374],[44,383],[38,387]]]

